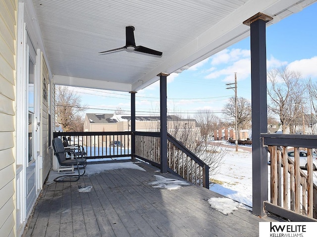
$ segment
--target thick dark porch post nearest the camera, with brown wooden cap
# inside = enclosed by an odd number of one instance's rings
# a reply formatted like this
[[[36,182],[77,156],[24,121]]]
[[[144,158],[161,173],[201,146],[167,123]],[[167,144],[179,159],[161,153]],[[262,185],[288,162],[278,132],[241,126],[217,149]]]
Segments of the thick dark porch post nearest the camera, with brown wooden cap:
[[[267,151],[261,133],[267,132],[265,23],[270,20],[272,17],[259,12],[243,22],[250,26],[251,35],[253,214],[261,217],[268,199]]]

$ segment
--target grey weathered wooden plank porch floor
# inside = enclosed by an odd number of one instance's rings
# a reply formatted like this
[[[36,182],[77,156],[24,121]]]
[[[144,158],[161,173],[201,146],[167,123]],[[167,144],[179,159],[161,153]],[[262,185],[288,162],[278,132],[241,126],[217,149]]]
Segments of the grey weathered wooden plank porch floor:
[[[148,183],[161,174],[150,165],[108,170],[78,182],[45,185],[24,237],[254,237],[259,221],[238,209],[224,215],[208,199],[221,197],[196,185],[178,190],[154,188]],[[79,186],[92,186],[79,192]]]

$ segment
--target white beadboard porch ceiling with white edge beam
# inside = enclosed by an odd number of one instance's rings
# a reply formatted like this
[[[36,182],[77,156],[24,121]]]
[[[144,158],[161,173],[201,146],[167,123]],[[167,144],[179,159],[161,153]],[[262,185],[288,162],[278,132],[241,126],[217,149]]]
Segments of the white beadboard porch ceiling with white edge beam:
[[[159,73],[182,71],[249,36],[242,22],[263,12],[274,24],[316,0],[33,0],[54,83],[137,91]],[[126,49],[125,27],[136,45]]]

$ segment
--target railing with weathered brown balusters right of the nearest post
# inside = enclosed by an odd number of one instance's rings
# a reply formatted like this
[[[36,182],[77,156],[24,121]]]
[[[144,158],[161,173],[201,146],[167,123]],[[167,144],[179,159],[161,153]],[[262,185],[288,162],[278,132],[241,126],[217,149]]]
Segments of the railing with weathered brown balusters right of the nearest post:
[[[262,138],[270,153],[271,172],[270,203],[264,203],[265,209],[289,220],[317,218],[312,157],[312,149],[317,148],[317,136],[262,134]],[[294,161],[287,154],[290,147],[293,147]],[[307,150],[307,172],[300,168],[300,149]]]

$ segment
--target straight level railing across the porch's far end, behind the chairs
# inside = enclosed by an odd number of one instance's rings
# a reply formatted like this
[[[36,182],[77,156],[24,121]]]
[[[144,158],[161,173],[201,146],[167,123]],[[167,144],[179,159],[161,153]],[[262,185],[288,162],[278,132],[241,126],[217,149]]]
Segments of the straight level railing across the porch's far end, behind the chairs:
[[[69,145],[78,144],[87,152],[87,159],[131,158],[131,132],[54,132],[53,136],[68,139]],[[119,141],[121,145],[111,142]]]

